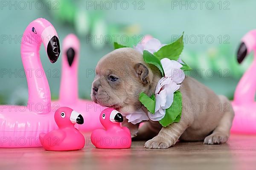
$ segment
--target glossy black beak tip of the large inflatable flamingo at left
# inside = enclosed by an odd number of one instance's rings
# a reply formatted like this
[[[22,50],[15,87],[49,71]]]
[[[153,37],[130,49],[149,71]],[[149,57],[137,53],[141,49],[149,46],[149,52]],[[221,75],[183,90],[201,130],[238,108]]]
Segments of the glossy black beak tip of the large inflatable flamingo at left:
[[[55,63],[58,60],[61,53],[60,49],[58,37],[53,36],[47,45],[47,55],[52,63]]]

